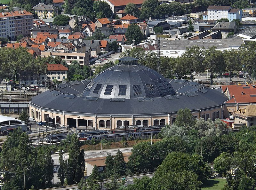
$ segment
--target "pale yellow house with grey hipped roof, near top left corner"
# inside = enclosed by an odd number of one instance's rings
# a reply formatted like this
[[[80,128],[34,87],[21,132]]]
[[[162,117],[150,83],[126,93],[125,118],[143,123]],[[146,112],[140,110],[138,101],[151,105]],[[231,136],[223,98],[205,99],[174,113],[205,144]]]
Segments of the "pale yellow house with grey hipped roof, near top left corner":
[[[36,6],[32,7],[39,19],[48,19],[58,15],[58,8],[44,3],[39,3]]]

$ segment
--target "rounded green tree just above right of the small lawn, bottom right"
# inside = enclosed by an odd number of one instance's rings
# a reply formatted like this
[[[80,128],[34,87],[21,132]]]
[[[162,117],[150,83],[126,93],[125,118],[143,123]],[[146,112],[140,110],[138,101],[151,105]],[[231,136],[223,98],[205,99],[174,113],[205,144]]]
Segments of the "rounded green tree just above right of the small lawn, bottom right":
[[[231,167],[231,155],[223,152],[214,159],[214,170],[220,175],[227,174]]]

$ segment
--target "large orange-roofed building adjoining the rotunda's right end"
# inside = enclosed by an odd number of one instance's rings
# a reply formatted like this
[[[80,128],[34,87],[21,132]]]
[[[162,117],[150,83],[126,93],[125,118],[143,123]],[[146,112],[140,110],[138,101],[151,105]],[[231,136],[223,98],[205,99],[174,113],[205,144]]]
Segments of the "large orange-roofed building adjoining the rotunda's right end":
[[[226,117],[251,103],[256,104],[256,85],[222,85],[221,91],[228,97],[225,102]]]

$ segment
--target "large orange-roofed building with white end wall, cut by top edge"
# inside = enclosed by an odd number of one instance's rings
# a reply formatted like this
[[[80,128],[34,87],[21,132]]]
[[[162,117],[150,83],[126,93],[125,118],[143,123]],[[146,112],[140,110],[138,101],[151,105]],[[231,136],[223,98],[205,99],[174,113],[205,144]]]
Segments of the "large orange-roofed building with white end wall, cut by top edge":
[[[120,1],[120,0],[102,0],[102,1],[105,1],[106,3],[108,3],[110,5],[110,8],[111,8],[113,14],[115,14],[119,10],[124,10],[128,3],[134,3],[137,5],[138,8],[141,8],[142,3],[144,2],[144,0],[122,0],[122,1]]]

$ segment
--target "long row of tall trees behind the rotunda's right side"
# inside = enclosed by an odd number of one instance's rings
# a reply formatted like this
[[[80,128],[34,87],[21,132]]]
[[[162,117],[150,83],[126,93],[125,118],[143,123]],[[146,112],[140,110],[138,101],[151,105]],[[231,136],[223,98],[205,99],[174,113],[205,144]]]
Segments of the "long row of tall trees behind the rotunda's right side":
[[[164,77],[182,77],[190,75],[193,80],[193,72],[204,72],[210,70],[211,79],[214,73],[224,73],[229,71],[230,81],[234,71],[246,71],[250,80],[255,77],[256,58],[255,42],[249,42],[242,45],[238,50],[230,49],[221,52],[216,50],[215,46],[208,50],[200,49],[198,46],[187,48],[186,51],[178,58],[161,57],[160,72]],[[125,50],[120,57],[132,56],[139,59],[139,64],[145,65],[151,69],[157,70],[157,56],[152,51],[144,51],[141,47],[135,47],[131,50]],[[242,63],[242,64],[241,64]]]

